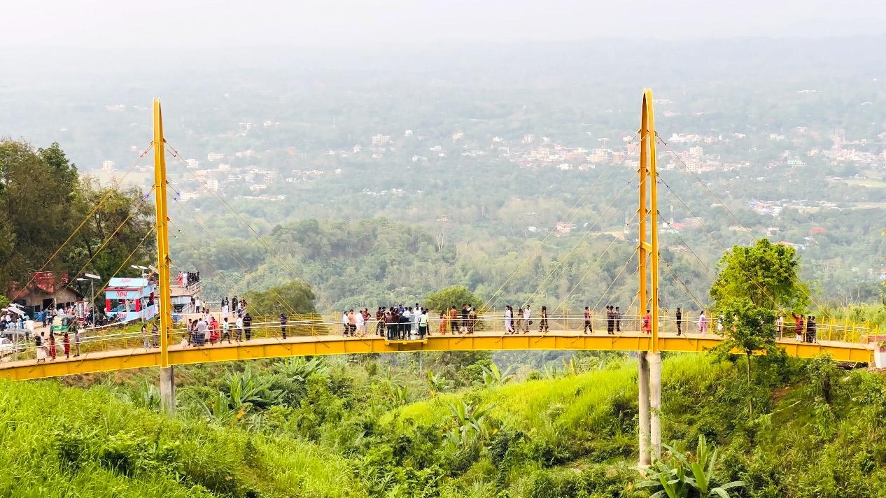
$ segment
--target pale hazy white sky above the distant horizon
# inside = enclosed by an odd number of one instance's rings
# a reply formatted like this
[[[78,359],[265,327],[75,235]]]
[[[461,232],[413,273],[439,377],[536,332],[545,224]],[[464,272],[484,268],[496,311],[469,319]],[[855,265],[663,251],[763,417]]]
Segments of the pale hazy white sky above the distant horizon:
[[[883,0],[39,0],[3,11],[0,46],[32,48],[886,33]]]

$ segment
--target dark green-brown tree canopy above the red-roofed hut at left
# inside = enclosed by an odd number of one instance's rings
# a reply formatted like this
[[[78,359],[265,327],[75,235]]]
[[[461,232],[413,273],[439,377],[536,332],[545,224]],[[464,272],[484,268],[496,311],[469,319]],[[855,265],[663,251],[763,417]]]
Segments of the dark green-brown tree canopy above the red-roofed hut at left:
[[[82,272],[107,279],[152,263],[152,218],[140,189],[78,175],[58,143],[0,140],[0,289],[37,269],[77,284]]]

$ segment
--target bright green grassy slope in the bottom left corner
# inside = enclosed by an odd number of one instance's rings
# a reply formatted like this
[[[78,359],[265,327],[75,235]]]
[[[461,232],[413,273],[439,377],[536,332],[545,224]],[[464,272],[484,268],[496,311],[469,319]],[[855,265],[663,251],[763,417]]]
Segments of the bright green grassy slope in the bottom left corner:
[[[0,383],[0,496],[365,496],[346,460],[202,420],[170,420],[100,388]]]

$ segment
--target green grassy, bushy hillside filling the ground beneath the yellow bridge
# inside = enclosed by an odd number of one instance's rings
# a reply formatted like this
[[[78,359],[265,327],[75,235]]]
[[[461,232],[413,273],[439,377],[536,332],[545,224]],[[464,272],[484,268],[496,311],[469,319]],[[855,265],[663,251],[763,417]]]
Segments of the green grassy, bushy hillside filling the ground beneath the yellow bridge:
[[[482,355],[425,356],[436,373],[408,355],[195,366],[179,372],[175,419],[139,382],[150,370],[85,390],[4,382],[0,495],[649,494],[634,486],[633,359],[584,355],[517,379]],[[665,359],[665,441],[715,442],[717,479],[747,481],[742,496],[881,495],[882,376],[773,357],[749,388],[741,362]],[[736,415],[748,395],[752,420]]]

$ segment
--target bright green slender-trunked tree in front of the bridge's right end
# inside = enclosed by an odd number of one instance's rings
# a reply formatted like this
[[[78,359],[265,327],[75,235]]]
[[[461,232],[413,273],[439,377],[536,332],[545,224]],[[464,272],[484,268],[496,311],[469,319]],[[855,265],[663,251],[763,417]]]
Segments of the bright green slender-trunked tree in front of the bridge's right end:
[[[778,309],[802,311],[809,303],[809,286],[800,282],[797,252],[787,245],[773,245],[767,239],[748,247],[734,246],[719,261],[719,274],[711,286],[718,320],[722,320],[727,340],[715,351],[730,354],[741,351],[747,360],[748,416],[753,416],[751,390],[753,355],[758,352],[781,354],[775,344],[775,316]]]

